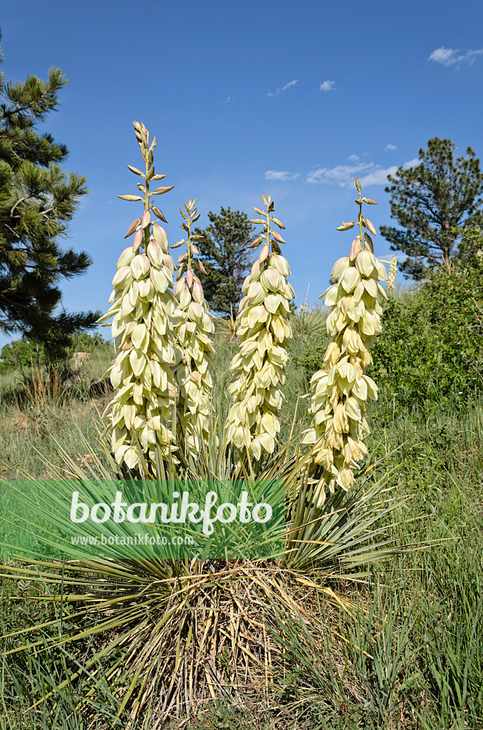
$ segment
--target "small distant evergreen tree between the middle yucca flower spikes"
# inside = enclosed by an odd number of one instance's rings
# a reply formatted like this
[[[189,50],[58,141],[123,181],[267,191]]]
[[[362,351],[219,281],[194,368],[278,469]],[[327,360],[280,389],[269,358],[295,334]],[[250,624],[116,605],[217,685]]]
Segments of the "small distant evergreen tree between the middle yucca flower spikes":
[[[210,225],[197,245],[206,273],[201,274],[204,298],[213,312],[235,317],[253,257],[247,247],[253,242],[253,226],[246,213],[221,208],[220,214],[208,213]]]

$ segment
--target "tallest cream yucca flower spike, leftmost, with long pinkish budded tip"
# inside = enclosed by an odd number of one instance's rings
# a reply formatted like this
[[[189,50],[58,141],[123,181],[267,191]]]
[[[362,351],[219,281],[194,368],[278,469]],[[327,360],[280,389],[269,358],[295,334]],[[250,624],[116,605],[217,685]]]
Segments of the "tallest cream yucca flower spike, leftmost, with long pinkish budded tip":
[[[140,451],[154,464],[155,447],[166,453],[174,441],[170,422],[176,395],[172,374],[175,343],[170,321],[176,304],[171,292],[174,262],[166,231],[151,222],[153,213],[166,223],[151,198],[173,186],[156,188],[150,193],[150,182],[166,175],[155,174],[152,164],[156,138],[150,145],[144,125],[134,122],[134,128],[146,170],[128,167],[142,177],[138,188],[143,195],[118,197],[144,203],[144,213],[131,223],[125,236],[134,234],[134,242],[117,261],[117,273],[112,280],[114,291],[109,298],[111,307],[98,320],[105,322],[114,316],[112,337],[117,354],[106,376],[110,377],[115,395],[105,415],[109,413],[107,431],[117,464],[125,464],[129,469],[139,468]]]

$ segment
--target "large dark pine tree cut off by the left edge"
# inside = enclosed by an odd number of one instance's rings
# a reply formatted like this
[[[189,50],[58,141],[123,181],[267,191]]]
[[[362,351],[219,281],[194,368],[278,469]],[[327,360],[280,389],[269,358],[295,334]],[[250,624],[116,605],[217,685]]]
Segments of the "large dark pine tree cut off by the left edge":
[[[88,193],[85,177],[64,172],[66,146],[37,129],[57,108],[66,81],[56,68],[47,81],[29,75],[12,83],[0,72],[0,329],[36,339],[52,355],[99,316],[58,312],[59,280],[92,264],[87,253],[57,242]]]

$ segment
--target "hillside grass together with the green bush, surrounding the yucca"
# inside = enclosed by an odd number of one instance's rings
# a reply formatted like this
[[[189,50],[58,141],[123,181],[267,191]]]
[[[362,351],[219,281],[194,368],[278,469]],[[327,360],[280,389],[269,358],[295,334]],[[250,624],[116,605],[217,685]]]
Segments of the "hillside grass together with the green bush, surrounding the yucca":
[[[382,518],[383,537],[398,555],[368,564],[357,581],[334,584],[358,609],[327,602],[322,585],[306,588],[304,615],[283,613],[272,623],[272,648],[285,656],[274,664],[265,696],[246,698],[250,714],[216,694],[198,720],[172,727],[260,728],[479,728],[483,723],[483,404],[481,399],[481,286],[468,270],[439,272],[426,288],[399,290],[385,310],[371,374],[382,386],[368,420],[369,483],[384,479],[401,506]],[[470,287],[471,283],[471,287]],[[468,293],[469,292],[469,293]],[[293,318],[295,337],[287,365],[287,403],[281,441],[307,424],[309,376],[325,350],[325,314],[312,310]],[[228,362],[236,342],[216,335],[215,399],[228,408]],[[93,350],[68,388],[45,374],[1,376],[0,468],[4,479],[27,472],[48,476],[64,449],[81,464],[98,440],[99,412],[108,395],[92,397],[88,385],[112,353]],[[387,494],[387,492],[386,492]],[[2,499],[6,496],[2,495]],[[382,499],[382,496],[381,496]],[[331,585],[330,578],[328,583]],[[45,585],[45,592],[51,591]],[[253,600],[260,600],[257,584]],[[53,604],[28,581],[4,580],[1,634],[53,620],[37,631],[34,648],[3,659],[0,728],[85,727],[78,705],[80,680],[62,696],[36,709],[51,682],[58,683],[96,648],[85,639],[74,657],[61,646],[47,650],[58,631]],[[294,585],[294,593],[300,586]],[[279,621],[279,630],[274,629]],[[283,631],[282,631],[283,629]],[[3,639],[18,646],[21,634]],[[285,637],[285,638],[284,638]],[[100,646],[96,650],[100,650]],[[84,659],[82,659],[82,657]],[[222,660],[223,661],[223,660]],[[102,663],[91,697],[98,727],[111,727],[119,709],[115,673]],[[77,669],[76,669],[77,671]],[[267,670],[268,671],[268,670]],[[119,726],[127,715],[121,712]],[[132,725],[136,727],[136,723]],[[152,727],[158,727],[155,718]]]

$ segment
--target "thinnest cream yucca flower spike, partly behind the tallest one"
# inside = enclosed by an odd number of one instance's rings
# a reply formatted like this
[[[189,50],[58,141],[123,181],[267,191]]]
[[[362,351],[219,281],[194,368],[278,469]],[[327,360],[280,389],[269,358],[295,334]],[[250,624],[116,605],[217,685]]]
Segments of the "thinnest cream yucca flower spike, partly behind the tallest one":
[[[185,211],[179,212],[185,222],[181,228],[188,234],[171,248],[186,244],[187,251],[179,256],[177,283],[174,297],[177,308],[172,315],[175,336],[176,377],[179,390],[177,403],[177,426],[185,434],[185,445],[195,456],[209,437],[209,414],[211,412],[212,353],[215,352],[209,335],[215,331],[212,315],[204,299],[203,287],[193,264],[204,271],[198,258],[199,251],[194,240],[201,236],[191,233],[191,226],[200,217],[195,207],[196,200],[185,203]]]

